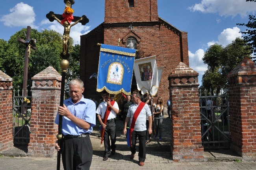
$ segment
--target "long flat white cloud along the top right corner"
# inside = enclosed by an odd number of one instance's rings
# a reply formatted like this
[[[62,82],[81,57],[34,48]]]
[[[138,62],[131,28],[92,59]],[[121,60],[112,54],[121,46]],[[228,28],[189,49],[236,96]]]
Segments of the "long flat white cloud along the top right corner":
[[[256,11],[255,2],[246,2],[245,0],[202,0],[188,8],[190,11],[201,11],[202,13],[218,13],[222,16],[240,15],[246,17],[248,13]]]

